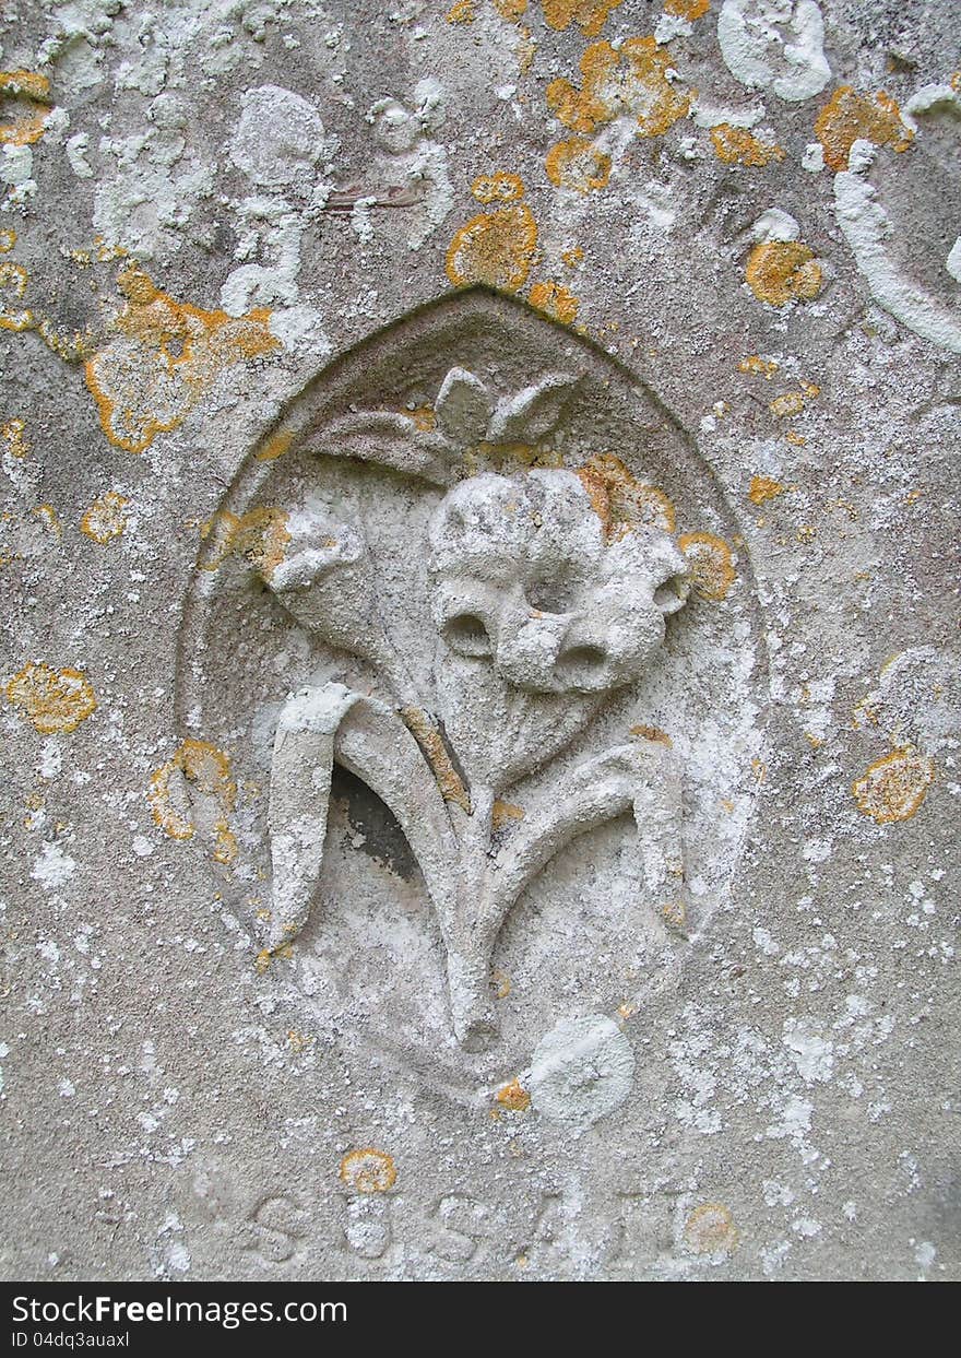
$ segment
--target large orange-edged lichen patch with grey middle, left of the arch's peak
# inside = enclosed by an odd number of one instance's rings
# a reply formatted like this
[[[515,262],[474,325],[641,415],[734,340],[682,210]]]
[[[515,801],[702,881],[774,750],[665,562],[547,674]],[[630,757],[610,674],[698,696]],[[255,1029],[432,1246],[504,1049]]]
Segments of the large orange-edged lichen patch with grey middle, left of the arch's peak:
[[[84,373],[105,435],[126,452],[175,429],[224,369],[280,346],[265,308],[240,318],[202,311],[160,292],[136,265],[117,281],[128,299],[114,322],[118,335]]]

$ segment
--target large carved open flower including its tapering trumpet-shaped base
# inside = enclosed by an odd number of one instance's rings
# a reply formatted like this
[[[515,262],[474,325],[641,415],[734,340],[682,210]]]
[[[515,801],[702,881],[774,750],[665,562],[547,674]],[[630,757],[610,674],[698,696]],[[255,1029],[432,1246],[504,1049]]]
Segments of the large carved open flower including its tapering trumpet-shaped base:
[[[448,492],[430,530],[434,675],[471,782],[500,793],[547,762],[638,679],[684,599],[665,534],[607,543],[571,471],[485,474]]]

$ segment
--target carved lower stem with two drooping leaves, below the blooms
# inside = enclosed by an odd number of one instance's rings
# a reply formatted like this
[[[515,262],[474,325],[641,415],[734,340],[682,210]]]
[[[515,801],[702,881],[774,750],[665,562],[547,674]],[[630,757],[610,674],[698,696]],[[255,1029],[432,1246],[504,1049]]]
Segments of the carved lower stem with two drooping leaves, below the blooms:
[[[494,849],[493,789],[476,789],[470,811],[445,800],[437,769],[400,713],[331,683],[295,694],[277,728],[269,811],[271,948],[292,941],[309,917],[323,872],[335,759],[391,808],[418,860],[447,948],[453,1029],[468,1051],[497,1036],[490,964],[508,911],[577,835],[633,811],[647,891],[668,922],[677,922],[679,903],[683,915],[680,779],[673,752],[662,744],[631,741],[573,769]]]

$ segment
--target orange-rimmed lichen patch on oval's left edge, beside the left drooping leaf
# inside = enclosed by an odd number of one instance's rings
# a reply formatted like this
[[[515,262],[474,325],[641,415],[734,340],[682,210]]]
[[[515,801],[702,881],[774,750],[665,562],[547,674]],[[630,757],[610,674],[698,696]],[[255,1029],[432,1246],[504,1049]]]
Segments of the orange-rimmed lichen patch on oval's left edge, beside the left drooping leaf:
[[[171,839],[193,839],[200,828],[190,807],[191,788],[209,797],[214,807],[210,826],[214,860],[232,862],[236,857],[236,839],[227,816],[236,805],[238,788],[231,778],[229,755],[206,740],[185,740],[174,758],[152,775],[147,790],[151,815]]]

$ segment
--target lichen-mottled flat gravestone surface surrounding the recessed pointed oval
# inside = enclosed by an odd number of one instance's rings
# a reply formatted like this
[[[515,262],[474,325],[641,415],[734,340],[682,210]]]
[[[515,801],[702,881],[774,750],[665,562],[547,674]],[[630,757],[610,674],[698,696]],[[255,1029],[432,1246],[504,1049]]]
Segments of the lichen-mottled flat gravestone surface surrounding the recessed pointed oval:
[[[0,68],[4,1275],[957,1278],[957,7],[4,0]],[[771,656],[657,1099],[580,1150],[305,1027],[258,790],[167,799],[240,459],[471,282],[681,420]]]

